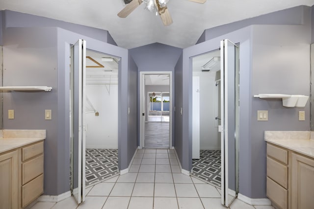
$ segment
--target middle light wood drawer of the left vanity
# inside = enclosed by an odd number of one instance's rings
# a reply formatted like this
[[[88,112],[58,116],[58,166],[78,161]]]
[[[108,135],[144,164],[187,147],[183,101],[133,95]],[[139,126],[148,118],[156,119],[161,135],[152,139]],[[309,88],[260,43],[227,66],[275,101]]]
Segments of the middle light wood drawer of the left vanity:
[[[44,173],[44,155],[22,164],[22,185]]]

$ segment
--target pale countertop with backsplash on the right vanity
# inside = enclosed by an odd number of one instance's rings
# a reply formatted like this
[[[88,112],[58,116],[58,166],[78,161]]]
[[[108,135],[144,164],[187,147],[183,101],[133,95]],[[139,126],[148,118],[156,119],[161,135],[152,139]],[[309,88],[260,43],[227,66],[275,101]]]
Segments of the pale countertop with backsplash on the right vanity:
[[[314,158],[314,139],[310,131],[265,131],[267,142]]]

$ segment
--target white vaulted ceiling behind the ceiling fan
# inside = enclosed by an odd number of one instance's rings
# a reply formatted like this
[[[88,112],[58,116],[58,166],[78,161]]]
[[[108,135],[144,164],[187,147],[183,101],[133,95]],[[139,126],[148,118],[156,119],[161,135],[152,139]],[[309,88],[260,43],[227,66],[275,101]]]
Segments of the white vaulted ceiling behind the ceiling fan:
[[[173,24],[163,26],[160,18],[142,3],[122,19],[117,13],[122,0],[0,0],[8,9],[69,23],[108,30],[118,46],[133,48],[152,43],[185,48],[194,45],[204,29],[298,5],[312,6],[314,0],[169,0]]]

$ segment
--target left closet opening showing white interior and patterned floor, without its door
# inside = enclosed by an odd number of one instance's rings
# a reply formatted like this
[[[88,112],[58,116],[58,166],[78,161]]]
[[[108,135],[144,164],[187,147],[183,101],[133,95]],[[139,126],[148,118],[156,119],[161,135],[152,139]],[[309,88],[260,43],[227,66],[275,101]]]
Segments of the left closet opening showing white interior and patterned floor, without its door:
[[[118,63],[86,50],[86,187],[119,174]]]

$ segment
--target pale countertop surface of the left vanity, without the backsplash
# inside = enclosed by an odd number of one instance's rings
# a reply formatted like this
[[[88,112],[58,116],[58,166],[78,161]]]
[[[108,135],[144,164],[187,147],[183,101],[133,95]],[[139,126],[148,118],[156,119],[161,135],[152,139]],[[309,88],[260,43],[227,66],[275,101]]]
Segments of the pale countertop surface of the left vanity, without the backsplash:
[[[44,139],[45,138],[0,138],[0,154]]]

